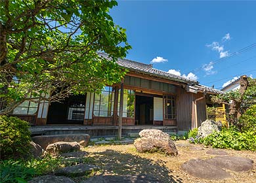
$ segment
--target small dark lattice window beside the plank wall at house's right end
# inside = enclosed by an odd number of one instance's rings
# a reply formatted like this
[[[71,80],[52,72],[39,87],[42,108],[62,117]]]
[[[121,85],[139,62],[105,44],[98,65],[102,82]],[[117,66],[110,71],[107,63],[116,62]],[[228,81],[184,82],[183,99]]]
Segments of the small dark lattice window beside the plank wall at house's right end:
[[[171,95],[164,96],[165,104],[165,119],[166,120],[176,120],[176,102],[175,97]]]

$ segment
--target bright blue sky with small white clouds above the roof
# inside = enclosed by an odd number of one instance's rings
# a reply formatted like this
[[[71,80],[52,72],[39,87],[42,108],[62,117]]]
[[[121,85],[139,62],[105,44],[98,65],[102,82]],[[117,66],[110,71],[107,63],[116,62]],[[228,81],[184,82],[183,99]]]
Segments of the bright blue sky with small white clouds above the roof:
[[[118,1],[110,15],[127,29],[127,59],[215,88],[256,77],[256,1]]]

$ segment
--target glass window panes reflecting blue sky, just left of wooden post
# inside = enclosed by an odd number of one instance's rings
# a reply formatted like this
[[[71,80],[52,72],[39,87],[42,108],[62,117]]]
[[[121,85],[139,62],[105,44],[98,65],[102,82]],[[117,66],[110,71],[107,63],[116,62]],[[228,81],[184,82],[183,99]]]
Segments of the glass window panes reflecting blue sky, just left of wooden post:
[[[106,86],[100,94],[95,93],[94,116],[109,117],[114,114],[114,88]]]

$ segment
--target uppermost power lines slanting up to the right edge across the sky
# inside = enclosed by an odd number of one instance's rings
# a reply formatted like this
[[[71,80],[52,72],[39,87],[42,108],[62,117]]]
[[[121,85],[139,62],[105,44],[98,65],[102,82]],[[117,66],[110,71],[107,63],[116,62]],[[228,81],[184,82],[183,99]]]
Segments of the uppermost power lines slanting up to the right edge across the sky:
[[[214,65],[214,64],[219,63],[219,62],[221,62],[221,61],[226,61],[227,59],[230,59],[230,58],[233,58],[233,57],[235,57],[235,56],[238,56],[239,54],[242,54],[242,53],[244,53],[244,52],[247,52],[247,51],[249,51],[249,50],[251,50],[251,49],[253,49],[253,48],[256,48],[256,43],[253,43],[253,44],[251,44],[251,45],[249,45],[249,46],[246,46],[246,47],[244,47],[244,48],[238,50],[237,52],[234,52],[234,53],[230,54],[229,56],[227,56],[227,57],[225,57],[225,58],[217,59],[216,61],[213,61],[210,65]],[[199,67],[199,68],[197,68],[197,69],[194,69],[194,70],[192,70],[192,71],[190,71],[190,72],[188,72],[188,73],[196,73],[196,72],[198,72],[198,71],[201,71],[202,69],[205,69],[207,66],[209,66],[209,64],[208,64],[208,65],[203,65],[202,67]],[[188,75],[188,73],[186,73],[186,75]]]

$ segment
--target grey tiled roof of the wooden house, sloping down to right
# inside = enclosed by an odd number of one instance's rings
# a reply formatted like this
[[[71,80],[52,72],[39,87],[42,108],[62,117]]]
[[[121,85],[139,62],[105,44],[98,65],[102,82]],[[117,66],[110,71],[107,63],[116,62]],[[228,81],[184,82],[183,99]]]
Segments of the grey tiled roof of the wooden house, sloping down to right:
[[[99,55],[106,59],[109,59],[107,54],[99,53]],[[203,86],[199,84],[199,82],[196,80],[192,80],[182,76],[172,75],[171,73],[167,73],[165,71],[155,69],[153,68],[152,64],[140,63],[138,61],[132,61],[129,59],[117,59],[116,63],[119,66],[124,67],[125,69],[128,69],[129,71],[144,73],[146,75],[151,75],[151,76],[158,76],[160,78],[165,78],[165,79],[173,80],[176,82],[182,82],[182,83],[188,84],[188,90],[191,89],[194,91],[194,93],[197,93],[197,92],[206,92],[206,93],[215,93],[215,94],[224,93],[220,90],[210,88],[208,86]]]

